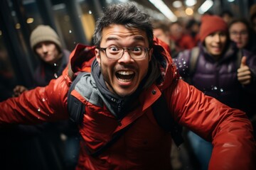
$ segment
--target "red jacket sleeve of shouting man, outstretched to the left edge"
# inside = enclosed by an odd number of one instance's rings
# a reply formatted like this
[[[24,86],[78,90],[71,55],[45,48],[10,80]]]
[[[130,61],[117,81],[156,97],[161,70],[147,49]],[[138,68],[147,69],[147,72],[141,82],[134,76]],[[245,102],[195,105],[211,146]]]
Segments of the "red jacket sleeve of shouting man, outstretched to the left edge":
[[[34,124],[68,119],[68,76],[53,79],[45,87],[26,91],[21,96],[0,103],[0,125]]]

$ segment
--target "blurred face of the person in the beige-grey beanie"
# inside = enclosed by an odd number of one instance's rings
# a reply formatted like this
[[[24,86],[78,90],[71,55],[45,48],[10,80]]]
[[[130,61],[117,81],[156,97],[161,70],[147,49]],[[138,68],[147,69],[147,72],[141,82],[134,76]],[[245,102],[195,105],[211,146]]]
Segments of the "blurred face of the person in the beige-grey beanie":
[[[36,54],[48,64],[54,64],[61,56],[55,43],[50,41],[38,43],[36,45]]]

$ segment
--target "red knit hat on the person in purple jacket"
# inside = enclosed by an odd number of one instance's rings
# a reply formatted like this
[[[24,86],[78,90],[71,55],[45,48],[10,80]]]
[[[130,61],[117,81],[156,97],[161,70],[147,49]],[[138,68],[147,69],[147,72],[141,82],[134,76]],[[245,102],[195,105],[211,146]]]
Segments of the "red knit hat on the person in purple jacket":
[[[201,18],[200,40],[203,42],[208,35],[217,31],[228,33],[228,25],[220,16],[205,15]]]

